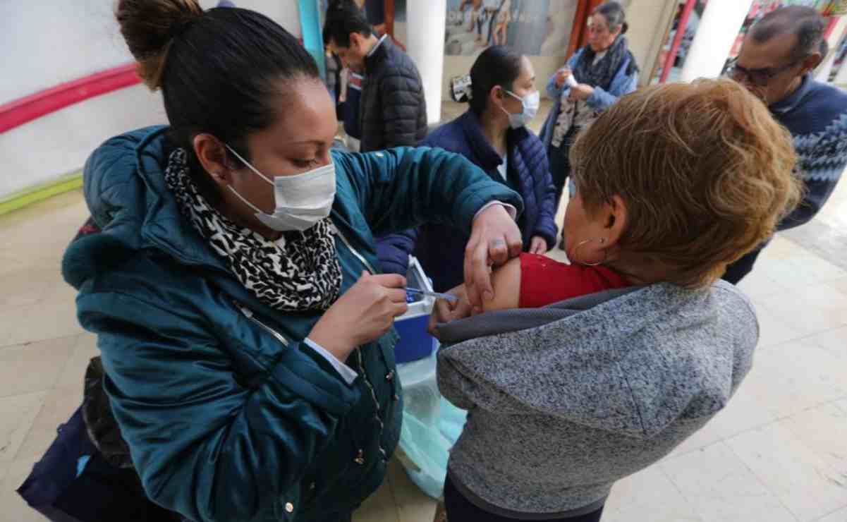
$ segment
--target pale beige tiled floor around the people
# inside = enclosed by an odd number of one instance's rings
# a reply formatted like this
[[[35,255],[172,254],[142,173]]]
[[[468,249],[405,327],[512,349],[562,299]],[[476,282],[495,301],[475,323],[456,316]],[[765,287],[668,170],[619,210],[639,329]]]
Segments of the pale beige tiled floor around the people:
[[[0,217],[0,521],[43,520],[14,489],[79,405],[97,353],[58,273],[86,215],[71,192]],[[820,222],[847,229],[847,181]],[[604,522],[847,522],[847,242],[840,252],[821,258],[787,236],[767,247],[742,284],[761,322],[750,375],[704,430],[615,486]],[[394,462],[356,519],[434,511]]]

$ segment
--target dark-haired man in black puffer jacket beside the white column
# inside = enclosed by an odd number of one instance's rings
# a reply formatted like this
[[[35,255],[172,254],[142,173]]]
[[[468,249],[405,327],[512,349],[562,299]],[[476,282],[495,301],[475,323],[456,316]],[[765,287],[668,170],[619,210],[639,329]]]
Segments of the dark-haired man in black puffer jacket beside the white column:
[[[348,67],[365,71],[359,121],[361,152],[414,146],[426,136],[426,101],[418,68],[389,36],[378,38],[352,0],[330,3],[324,43]]]

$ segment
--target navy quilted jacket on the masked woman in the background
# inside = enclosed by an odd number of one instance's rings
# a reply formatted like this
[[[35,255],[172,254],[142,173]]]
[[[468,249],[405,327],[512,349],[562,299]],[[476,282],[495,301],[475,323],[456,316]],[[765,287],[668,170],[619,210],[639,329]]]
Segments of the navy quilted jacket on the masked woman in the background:
[[[427,136],[421,145],[441,147],[462,154],[491,179],[506,183],[497,171],[502,158],[483,135],[479,119],[472,110]],[[547,154],[538,136],[526,128],[507,134],[508,177],[514,180],[523,197],[524,212],[518,217],[523,234],[523,249],[533,236],[541,236],[548,247],[556,244],[556,189],[547,164]],[[379,262],[385,272],[405,274],[408,254],[420,260],[424,272],[433,280],[435,290],[443,292],[462,283],[462,264],[468,234],[446,225],[424,225],[416,230],[386,236],[377,242]]]

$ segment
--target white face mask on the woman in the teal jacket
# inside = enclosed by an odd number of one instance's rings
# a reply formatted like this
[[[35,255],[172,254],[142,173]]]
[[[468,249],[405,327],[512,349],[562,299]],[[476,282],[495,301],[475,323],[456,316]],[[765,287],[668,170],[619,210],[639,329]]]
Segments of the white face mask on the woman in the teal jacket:
[[[256,211],[256,217],[263,225],[278,232],[288,230],[308,230],[318,221],[329,216],[332,203],[335,201],[335,162],[309,170],[298,175],[280,175],[273,179],[263,175],[246,159],[241,158],[232,147],[230,153],[235,158],[255,172],[263,180],[274,186],[274,214],[263,212],[256,205],[250,203],[245,197],[230,185],[230,191],[247,206]]]

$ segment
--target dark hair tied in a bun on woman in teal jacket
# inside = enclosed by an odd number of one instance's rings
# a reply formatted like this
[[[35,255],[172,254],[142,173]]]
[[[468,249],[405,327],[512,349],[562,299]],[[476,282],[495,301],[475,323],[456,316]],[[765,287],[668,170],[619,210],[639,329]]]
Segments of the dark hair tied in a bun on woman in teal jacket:
[[[318,81],[318,65],[274,20],[241,8],[206,12],[197,0],[119,0],[116,18],[141,79],[162,89],[170,137],[188,151],[191,175],[217,201],[192,141],[209,133],[250,160],[246,136],[280,114],[269,103],[280,80]]]

